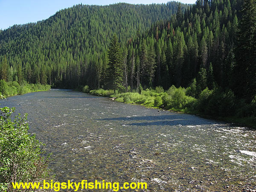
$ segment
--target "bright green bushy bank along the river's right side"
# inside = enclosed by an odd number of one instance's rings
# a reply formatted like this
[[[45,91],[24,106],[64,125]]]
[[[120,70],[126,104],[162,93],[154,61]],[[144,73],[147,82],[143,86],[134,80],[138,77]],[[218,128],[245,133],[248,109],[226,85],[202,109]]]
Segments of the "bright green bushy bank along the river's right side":
[[[170,111],[196,114],[210,119],[232,122],[238,125],[256,128],[256,99],[251,103],[236,99],[231,90],[222,90],[220,87],[213,90],[206,88],[197,93],[193,87],[162,87],[145,89],[140,93],[114,93],[113,90],[89,90],[85,86],[84,93],[96,96],[115,97],[118,102],[143,105],[149,108],[161,108]]]

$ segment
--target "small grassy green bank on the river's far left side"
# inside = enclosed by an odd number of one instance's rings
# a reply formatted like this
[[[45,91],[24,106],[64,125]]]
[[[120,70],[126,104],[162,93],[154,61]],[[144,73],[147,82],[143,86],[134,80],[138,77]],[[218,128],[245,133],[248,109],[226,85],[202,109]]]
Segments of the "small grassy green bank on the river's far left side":
[[[51,88],[50,85],[43,84],[18,84],[16,81],[6,82],[4,80],[0,80],[0,93],[3,96],[15,96],[15,95],[23,95],[26,93],[37,92],[37,91],[46,91]]]

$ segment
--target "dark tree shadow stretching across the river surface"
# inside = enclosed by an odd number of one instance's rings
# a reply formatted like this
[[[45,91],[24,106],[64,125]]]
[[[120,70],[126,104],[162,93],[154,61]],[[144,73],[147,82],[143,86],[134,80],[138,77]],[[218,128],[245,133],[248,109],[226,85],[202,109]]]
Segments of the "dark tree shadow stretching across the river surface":
[[[198,121],[196,120],[198,118]],[[173,126],[173,125],[212,125],[213,122],[209,122],[204,119],[193,116],[193,118],[188,118],[186,114],[172,114],[172,115],[159,115],[159,116],[128,116],[128,117],[116,117],[116,118],[105,118],[97,119],[105,121],[145,121],[145,122],[134,122],[127,125],[134,126]]]

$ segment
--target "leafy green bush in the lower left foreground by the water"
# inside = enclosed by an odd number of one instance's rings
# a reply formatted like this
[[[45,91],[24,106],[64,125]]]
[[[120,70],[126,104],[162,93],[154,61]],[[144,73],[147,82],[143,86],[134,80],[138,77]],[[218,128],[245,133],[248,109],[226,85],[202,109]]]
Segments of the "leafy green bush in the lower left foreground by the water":
[[[43,155],[42,143],[28,133],[27,115],[11,120],[14,111],[0,108],[0,189],[7,191],[12,191],[12,182],[49,179],[49,160]]]

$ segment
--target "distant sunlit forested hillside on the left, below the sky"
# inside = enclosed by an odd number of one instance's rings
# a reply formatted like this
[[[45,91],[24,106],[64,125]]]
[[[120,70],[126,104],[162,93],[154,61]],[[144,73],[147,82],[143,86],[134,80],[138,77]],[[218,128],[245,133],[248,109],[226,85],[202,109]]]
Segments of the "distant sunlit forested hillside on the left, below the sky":
[[[113,33],[125,44],[137,30],[143,32],[157,20],[169,19],[177,6],[177,2],[77,5],[47,20],[12,26],[0,32],[1,79],[96,88]],[[183,11],[187,7],[181,6]]]

